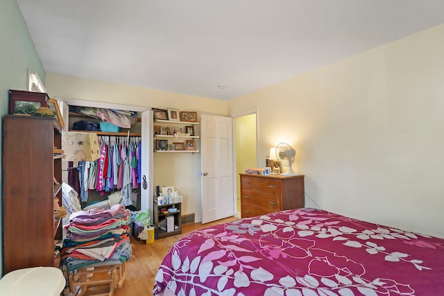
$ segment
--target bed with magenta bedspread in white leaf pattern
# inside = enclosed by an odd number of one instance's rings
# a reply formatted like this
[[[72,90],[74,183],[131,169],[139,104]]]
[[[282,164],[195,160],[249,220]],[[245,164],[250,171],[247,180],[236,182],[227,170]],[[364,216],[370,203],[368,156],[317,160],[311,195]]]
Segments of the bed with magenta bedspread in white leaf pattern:
[[[182,237],[153,295],[444,295],[444,239],[293,209]]]

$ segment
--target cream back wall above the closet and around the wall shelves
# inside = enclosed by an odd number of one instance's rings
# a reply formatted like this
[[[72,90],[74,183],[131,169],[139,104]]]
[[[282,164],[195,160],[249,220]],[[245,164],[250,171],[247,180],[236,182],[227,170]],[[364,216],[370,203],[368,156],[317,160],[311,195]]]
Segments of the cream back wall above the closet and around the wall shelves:
[[[228,115],[228,103],[225,101],[51,73],[46,74],[46,89],[51,97],[144,107],[170,107],[181,111],[193,110],[198,114]],[[198,131],[198,126],[195,129]],[[200,177],[195,175],[198,169],[200,169],[198,153],[154,154],[153,188],[155,189],[157,185],[175,186],[175,189],[184,196],[183,214],[195,213],[196,220],[201,219],[202,213]]]

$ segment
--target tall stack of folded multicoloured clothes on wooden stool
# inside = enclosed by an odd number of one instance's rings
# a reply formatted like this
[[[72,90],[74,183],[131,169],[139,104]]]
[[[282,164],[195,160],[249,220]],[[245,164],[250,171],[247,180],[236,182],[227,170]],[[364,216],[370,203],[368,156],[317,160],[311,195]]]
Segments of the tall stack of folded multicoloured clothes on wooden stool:
[[[69,271],[105,261],[131,259],[130,211],[121,204],[111,209],[76,211],[69,216],[62,260]]]

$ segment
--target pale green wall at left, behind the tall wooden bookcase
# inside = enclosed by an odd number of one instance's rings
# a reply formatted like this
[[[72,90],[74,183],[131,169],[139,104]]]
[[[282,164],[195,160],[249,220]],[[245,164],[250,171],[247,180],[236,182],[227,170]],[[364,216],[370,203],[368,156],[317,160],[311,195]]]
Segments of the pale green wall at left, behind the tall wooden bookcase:
[[[26,89],[28,69],[37,72],[42,82],[44,82],[45,76],[42,62],[37,55],[33,40],[29,35],[28,27],[16,0],[0,1],[0,69],[0,113],[3,117],[3,114],[8,113],[8,89]],[[1,122],[0,130],[2,134],[1,139],[3,139],[3,124]],[[3,155],[1,146],[0,154]],[[17,155],[17,157],[19,156]],[[2,164],[0,164],[0,179],[3,177]],[[3,185],[0,186],[1,277],[3,275]],[[17,225],[17,234],[20,233],[20,228],[22,227],[26,227],[26,225]]]

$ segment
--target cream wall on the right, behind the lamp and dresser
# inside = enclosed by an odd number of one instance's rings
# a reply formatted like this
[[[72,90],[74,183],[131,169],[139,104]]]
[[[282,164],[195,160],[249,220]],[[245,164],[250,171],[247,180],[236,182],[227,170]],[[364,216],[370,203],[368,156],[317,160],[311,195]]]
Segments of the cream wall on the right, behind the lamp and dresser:
[[[230,101],[285,141],[306,202],[444,237],[444,25]],[[309,198],[308,198],[309,197]]]

